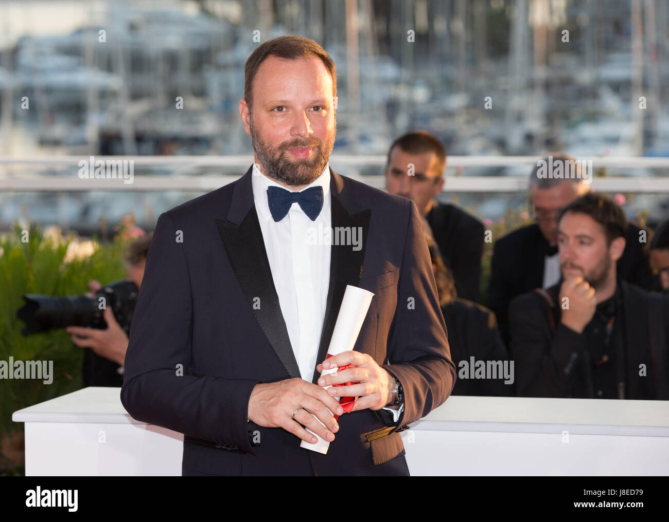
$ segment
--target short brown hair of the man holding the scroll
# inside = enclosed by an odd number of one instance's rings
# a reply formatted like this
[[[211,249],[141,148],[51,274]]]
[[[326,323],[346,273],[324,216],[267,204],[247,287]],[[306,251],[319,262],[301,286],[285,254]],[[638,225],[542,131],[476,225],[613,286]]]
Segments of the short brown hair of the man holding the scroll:
[[[337,67],[325,49],[320,47],[314,40],[297,35],[286,35],[273,38],[258,45],[246,60],[244,65],[244,99],[252,108],[253,103],[253,80],[260,69],[260,65],[270,56],[294,60],[298,58],[318,57],[323,62],[332,77],[332,95],[337,95]]]

